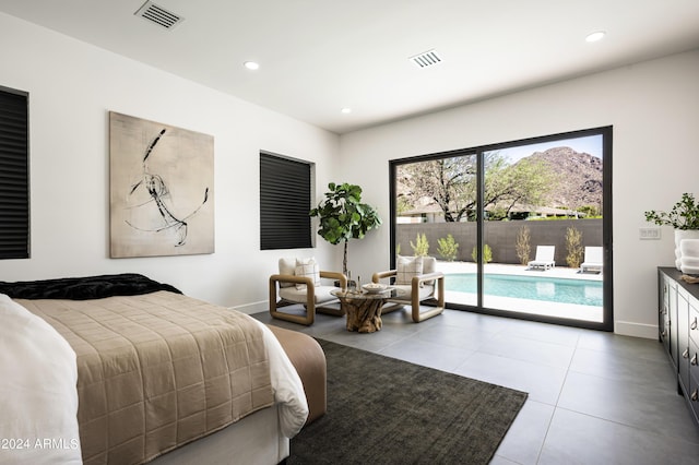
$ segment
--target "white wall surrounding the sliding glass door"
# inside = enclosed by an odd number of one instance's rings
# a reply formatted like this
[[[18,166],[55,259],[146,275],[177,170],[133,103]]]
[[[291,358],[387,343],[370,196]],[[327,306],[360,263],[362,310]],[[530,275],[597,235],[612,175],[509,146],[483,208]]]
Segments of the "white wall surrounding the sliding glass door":
[[[699,50],[619,68],[341,136],[341,170],[387,220],[351,253],[369,276],[389,259],[388,160],[613,126],[615,331],[656,337],[656,266],[673,231],[639,240],[643,212],[699,194]]]

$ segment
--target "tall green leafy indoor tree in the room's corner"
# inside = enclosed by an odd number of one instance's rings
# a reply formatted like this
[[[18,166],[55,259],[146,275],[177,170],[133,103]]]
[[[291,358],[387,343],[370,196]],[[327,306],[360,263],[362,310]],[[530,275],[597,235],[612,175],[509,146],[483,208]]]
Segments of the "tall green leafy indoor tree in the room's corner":
[[[325,200],[310,211],[310,216],[318,216],[320,225],[318,235],[332,245],[344,242],[342,273],[347,275],[347,242],[350,239],[362,239],[369,229],[381,225],[376,208],[362,203],[362,188],[343,182],[328,184]]]

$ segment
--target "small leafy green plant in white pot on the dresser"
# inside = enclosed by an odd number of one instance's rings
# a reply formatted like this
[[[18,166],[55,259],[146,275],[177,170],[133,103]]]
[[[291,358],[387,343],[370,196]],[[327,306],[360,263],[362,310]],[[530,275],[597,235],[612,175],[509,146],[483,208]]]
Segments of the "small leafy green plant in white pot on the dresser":
[[[699,274],[699,203],[694,194],[683,193],[670,212],[645,212],[645,220],[672,226],[675,229],[675,266],[686,274]]]

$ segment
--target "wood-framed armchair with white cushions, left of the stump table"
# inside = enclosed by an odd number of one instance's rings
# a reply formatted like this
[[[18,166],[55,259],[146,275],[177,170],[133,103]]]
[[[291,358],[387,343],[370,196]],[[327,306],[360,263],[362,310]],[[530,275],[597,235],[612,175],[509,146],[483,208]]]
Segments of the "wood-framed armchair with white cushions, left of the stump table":
[[[334,286],[322,285],[321,278],[335,279],[342,288],[347,287],[347,278],[342,273],[320,271],[315,259],[280,259],[280,273],[270,276],[270,314],[272,318],[293,323],[313,324],[316,311],[343,315],[337,298],[330,294]],[[303,303],[306,314],[292,314],[279,310],[293,303]]]

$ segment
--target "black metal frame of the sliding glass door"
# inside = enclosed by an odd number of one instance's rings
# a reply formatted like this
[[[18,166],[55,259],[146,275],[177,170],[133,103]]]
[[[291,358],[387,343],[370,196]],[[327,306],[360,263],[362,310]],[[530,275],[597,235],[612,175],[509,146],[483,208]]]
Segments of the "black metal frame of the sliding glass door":
[[[484,192],[485,192],[485,169],[484,169],[484,154],[502,148],[516,147],[521,145],[531,145],[543,142],[553,142],[556,140],[584,138],[590,135],[602,136],[602,245],[604,250],[604,273],[603,273],[603,321],[592,322],[584,320],[564,319],[556,317],[547,317],[535,313],[525,312],[512,312],[507,310],[498,310],[485,308],[483,306],[483,253],[478,254],[477,265],[477,305],[469,306],[463,303],[446,302],[447,308],[454,310],[465,310],[476,313],[493,314],[498,317],[516,318],[520,320],[538,321],[544,323],[560,324],[572,327],[583,327],[590,330],[600,331],[614,331],[614,272],[613,272],[613,234],[612,234],[612,147],[613,147],[613,127],[600,127],[592,129],[584,129],[579,131],[571,131],[545,136],[536,136],[530,139],[523,139],[518,141],[510,141],[505,143],[489,144],[471,148],[462,148],[455,151],[440,152],[428,155],[418,155],[405,158],[396,158],[389,160],[389,207],[390,207],[390,249],[396,248],[396,172],[398,167],[411,163],[427,162],[440,158],[458,157],[458,156],[473,156],[477,158],[477,174],[476,179],[478,183],[476,203],[477,212],[483,212]],[[476,219],[476,243],[478,250],[483,250],[485,243],[485,220],[484,215],[477,215]],[[390,254],[391,269],[395,267],[395,253]]]

